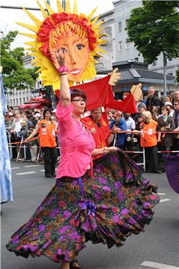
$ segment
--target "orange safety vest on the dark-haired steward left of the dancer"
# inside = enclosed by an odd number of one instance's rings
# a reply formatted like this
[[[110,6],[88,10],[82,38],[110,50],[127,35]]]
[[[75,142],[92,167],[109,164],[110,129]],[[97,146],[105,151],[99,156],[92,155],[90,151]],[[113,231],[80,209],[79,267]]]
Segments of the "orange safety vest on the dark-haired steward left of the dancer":
[[[56,147],[56,125],[54,122],[48,123],[45,119],[38,122],[40,147]]]

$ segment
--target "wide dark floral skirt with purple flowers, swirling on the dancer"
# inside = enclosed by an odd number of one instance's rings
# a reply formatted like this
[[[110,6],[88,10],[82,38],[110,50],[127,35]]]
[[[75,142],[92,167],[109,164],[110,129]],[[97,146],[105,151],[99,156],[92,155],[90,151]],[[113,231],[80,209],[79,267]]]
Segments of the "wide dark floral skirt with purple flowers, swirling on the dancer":
[[[93,175],[61,177],[31,219],[6,247],[17,255],[44,255],[55,262],[73,261],[85,242],[123,245],[143,231],[159,203],[157,187],[122,151],[94,162]]]

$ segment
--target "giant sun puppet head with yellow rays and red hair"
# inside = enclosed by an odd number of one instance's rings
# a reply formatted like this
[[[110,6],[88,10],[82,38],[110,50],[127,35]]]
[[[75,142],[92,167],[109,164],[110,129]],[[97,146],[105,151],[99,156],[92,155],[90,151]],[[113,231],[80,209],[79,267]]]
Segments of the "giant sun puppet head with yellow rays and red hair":
[[[83,13],[77,13],[77,0],[74,1],[72,12],[70,11],[70,0],[66,0],[65,11],[61,2],[56,0],[58,12],[45,2],[48,13],[37,1],[42,12],[44,20],[40,21],[34,17],[25,8],[24,11],[35,22],[36,25],[17,22],[22,27],[30,29],[35,34],[23,34],[33,38],[34,41],[26,42],[31,48],[31,55],[34,66],[40,66],[38,72],[42,79],[42,84],[52,85],[54,90],[60,88],[59,73],[57,72],[58,63],[56,62],[55,51],[60,50],[65,54],[65,61],[68,66],[68,82],[73,85],[74,82],[90,80],[95,78],[95,64],[100,57],[100,52],[104,52],[100,45],[106,41],[102,40],[102,22],[98,22],[98,17],[93,20],[95,8],[88,16]]]

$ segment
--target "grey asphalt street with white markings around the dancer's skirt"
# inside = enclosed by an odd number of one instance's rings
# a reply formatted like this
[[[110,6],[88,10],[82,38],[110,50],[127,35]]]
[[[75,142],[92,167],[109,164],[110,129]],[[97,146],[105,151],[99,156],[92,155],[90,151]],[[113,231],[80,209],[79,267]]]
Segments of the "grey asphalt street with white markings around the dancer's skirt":
[[[14,201],[1,205],[1,269],[57,269],[44,256],[24,259],[8,252],[6,243],[17,228],[29,220],[55,183],[46,178],[43,164],[11,161]],[[178,267],[178,194],[166,174],[143,174],[157,184],[160,203],[145,232],[131,235],[123,247],[86,244],[79,254],[84,269],[177,269]]]

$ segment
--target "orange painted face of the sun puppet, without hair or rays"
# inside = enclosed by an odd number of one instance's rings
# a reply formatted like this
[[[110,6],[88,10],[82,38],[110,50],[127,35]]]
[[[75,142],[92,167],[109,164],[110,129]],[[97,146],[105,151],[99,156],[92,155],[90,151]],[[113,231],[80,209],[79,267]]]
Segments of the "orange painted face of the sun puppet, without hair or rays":
[[[56,57],[54,50],[61,50],[65,54],[66,65],[68,66],[68,80],[75,82],[81,81],[81,75],[88,66],[90,59],[90,49],[87,38],[81,38],[70,32],[68,36],[59,38],[54,48],[49,46],[49,52],[54,66],[56,66]]]

